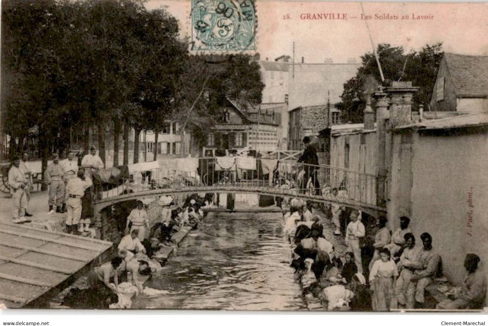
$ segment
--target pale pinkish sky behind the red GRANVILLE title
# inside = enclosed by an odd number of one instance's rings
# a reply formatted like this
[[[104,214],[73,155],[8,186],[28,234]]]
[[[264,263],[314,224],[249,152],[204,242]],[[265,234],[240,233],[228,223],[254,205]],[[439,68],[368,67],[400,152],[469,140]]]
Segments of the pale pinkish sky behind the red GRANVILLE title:
[[[146,2],[148,9],[162,6],[179,20],[181,34],[190,35],[191,2]],[[402,45],[409,52],[443,42],[446,52],[488,55],[488,3],[363,2],[363,8],[365,16],[371,17],[367,24],[374,44]],[[346,14],[347,19],[313,19],[317,13]],[[362,13],[359,2],[258,0],[256,52],[270,60],[284,54],[293,56],[295,42],[296,62],[301,57],[307,63],[321,63],[325,58],[335,63],[345,63],[348,58],[359,62],[359,57],[372,49]],[[427,19],[413,19],[412,15]],[[386,19],[388,16],[398,19]]]

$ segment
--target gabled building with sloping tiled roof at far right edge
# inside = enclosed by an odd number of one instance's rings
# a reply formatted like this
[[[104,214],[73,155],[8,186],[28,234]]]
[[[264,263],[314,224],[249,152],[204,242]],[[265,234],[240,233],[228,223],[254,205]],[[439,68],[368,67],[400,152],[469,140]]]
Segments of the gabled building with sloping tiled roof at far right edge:
[[[488,111],[488,56],[445,53],[429,103],[430,111]]]

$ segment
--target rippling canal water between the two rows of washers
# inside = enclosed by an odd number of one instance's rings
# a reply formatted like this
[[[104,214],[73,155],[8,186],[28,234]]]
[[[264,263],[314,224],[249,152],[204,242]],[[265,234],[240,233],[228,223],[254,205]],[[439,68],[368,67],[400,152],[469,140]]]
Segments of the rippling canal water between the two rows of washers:
[[[281,213],[209,213],[146,282],[163,294],[140,295],[132,308],[323,310],[294,280],[283,227]]]

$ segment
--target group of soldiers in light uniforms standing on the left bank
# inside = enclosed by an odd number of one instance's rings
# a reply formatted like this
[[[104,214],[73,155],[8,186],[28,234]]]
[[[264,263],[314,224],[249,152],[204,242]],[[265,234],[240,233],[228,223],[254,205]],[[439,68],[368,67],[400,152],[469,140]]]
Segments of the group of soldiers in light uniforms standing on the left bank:
[[[26,164],[28,154],[24,153],[22,158],[14,157],[13,166],[8,172],[8,184],[13,199],[12,222],[16,224],[29,223],[31,220],[26,216],[32,216],[27,212],[27,207],[33,189],[34,172]],[[81,197],[92,186],[92,173],[104,168],[104,163],[96,155],[94,147],[90,148],[90,153],[84,155],[80,163],[75,160],[72,152],[62,161],[59,154],[55,153],[43,178],[43,182],[49,187],[48,214],[66,212],[66,230],[73,234],[80,234],[90,225],[89,219],[81,220]]]

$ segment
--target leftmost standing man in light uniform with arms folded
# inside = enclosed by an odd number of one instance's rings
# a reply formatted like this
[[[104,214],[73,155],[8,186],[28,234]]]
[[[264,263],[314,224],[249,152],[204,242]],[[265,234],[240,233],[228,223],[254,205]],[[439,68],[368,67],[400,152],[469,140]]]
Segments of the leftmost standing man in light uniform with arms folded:
[[[25,194],[25,188],[29,186],[25,174],[20,171],[20,157],[14,157],[12,168],[8,171],[8,186],[10,187],[10,193],[14,201],[14,210],[12,214],[12,222],[16,224],[30,222],[30,220],[24,217],[25,208],[27,207],[27,196]]]

